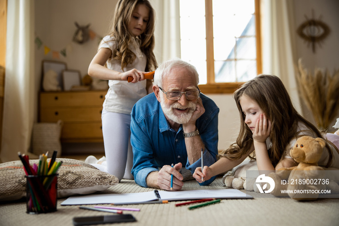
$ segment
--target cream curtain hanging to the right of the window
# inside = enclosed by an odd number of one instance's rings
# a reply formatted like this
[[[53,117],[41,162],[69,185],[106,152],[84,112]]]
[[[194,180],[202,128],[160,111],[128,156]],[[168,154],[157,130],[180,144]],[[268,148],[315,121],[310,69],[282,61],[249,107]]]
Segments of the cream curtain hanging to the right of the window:
[[[294,108],[302,114],[295,81],[297,54],[293,0],[261,0],[261,10],[262,73],[274,74],[281,79]]]

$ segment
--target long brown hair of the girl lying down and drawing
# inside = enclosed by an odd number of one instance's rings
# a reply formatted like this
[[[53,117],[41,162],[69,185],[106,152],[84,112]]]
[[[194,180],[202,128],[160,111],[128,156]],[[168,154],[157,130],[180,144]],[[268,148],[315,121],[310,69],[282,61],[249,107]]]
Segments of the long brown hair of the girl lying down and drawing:
[[[313,131],[318,137],[324,139],[322,133],[294,109],[284,84],[277,76],[259,75],[247,81],[241,88],[234,92],[233,96],[240,113],[241,127],[236,143],[230,145],[221,157],[240,159],[253,145],[252,132],[245,123],[245,114],[240,105],[240,98],[243,95],[255,100],[268,119],[271,120],[270,139],[272,141],[272,147],[268,150],[268,154],[274,167],[281,160],[281,157],[287,154],[284,153],[286,146],[293,138],[298,137],[296,134],[298,122],[304,123],[308,129]],[[326,166],[328,167],[332,161],[332,152],[327,142],[326,147],[330,156]]]

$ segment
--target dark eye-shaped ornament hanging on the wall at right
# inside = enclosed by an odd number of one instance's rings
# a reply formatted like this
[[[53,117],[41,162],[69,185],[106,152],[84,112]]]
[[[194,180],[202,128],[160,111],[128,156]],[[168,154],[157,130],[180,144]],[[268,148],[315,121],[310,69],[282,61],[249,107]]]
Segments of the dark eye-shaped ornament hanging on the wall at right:
[[[318,44],[320,48],[322,47],[321,44],[330,33],[330,28],[321,21],[322,16],[319,16],[319,19],[314,19],[313,10],[311,19],[308,19],[306,15],[305,17],[306,21],[298,27],[297,34],[308,42],[307,47],[312,45],[312,51],[315,53],[315,45]]]

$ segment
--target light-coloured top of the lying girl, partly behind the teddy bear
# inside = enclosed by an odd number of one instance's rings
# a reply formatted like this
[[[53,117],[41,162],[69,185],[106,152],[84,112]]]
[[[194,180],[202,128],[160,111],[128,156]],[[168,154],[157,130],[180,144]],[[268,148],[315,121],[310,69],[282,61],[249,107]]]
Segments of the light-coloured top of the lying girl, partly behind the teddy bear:
[[[302,122],[298,122],[298,127],[297,127],[296,132],[297,132],[298,137],[300,137],[300,136],[310,136],[310,137],[313,137],[313,138],[318,137],[313,131],[309,130],[308,127],[306,127],[306,125]],[[292,159],[292,157],[290,156],[290,150],[294,146],[296,140],[297,140],[297,138],[293,138],[291,140],[291,142],[286,146],[285,152],[284,152],[284,153],[286,153],[285,156],[284,156],[285,158]],[[267,149],[272,147],[272,142],[271,142],[271,139],[269,137],[266,139],[266,145],[267,145]],[[332,159],[332,162],[331,162],[329,167],[339,168],[339,154],[338,154],[337,150],[331,144],[329,144],[329,146],[330,146],[332,153],[333,153],[333,159]],[[326,147],[324,147],[323,155],[320,158],[320,160],[318,161],[318,165],[326,166],[328,158],[329,158],[328,151],[327,151]]]

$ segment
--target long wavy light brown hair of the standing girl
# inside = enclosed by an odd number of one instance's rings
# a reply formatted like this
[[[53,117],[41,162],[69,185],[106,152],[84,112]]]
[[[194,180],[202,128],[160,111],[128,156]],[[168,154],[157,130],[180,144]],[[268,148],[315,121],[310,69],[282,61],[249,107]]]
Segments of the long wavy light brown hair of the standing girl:
[[[154,49],[154,20],[155,13],[148,0],[119,0],[114,13],[111,30],[108,33],[115,38],[116,48],[112,52],[112,59],[121,61],[121,68],[132,64],[136,55],[128,48],[131,43],[132,35],[128,31],[129,21],[133,10],[139,4],[145,5],[150,13],[145,32],[139,35],[141,40],[140,49],[147,57],[145,71],[153,71],[156,68],[156,60],[153,53]]]

